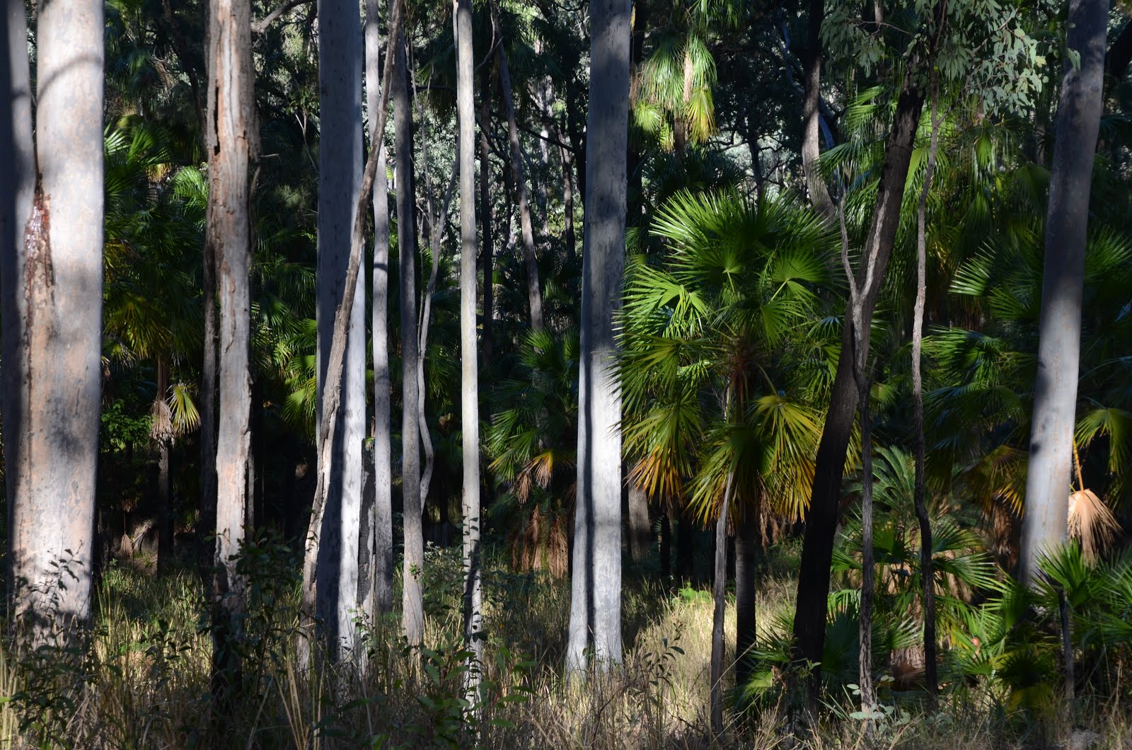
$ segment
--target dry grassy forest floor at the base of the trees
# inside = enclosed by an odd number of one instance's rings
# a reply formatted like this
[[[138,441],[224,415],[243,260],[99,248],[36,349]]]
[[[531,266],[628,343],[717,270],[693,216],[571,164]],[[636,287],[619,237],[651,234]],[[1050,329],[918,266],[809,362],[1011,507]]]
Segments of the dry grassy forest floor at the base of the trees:
[[[7,697],[0,747],[1132,748],[1132,722],[1120,706],[1079,705],[1071,722],[1039,730],[989,701],[952,701],[931,717],[898,709],[866,738],[864,724],[850,717],[848,693],[830,699],[820,726],[795,725],[794,732],[787,711],[732,710],[724,736],[713,741],[706,585],[669,589],[657,582],[655,563],[631,568],[624,668],[569,685],[560,676],[567,581],[509,572],[503,554],[489,555],[484,570],[486,689],[479,724],[470,728],[455,548],[427,553],[428,648],[413,654],[401,646],[391,616],[366,629],[363,671],[319,659],[308,673],[294,658],[298,561],[282,546],[256,548],[247,559],[241,690],[220,701],[199,579],[188,569],[157,577],[136,562],[104,571],[89,648],[0,653],[0,694]],[[766,555],[757,599],[761,644],[792,612],[796,570],[796,546]],[[730,654],[734,615],[732,598]]]

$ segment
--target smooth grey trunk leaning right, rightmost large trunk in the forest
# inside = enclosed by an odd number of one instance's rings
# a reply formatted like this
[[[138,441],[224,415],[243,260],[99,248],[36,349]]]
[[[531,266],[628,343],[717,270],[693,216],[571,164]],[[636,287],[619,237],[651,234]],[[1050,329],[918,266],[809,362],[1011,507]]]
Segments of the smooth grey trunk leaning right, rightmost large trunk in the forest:
[[[1038,376],[1034,386],[1020,578],[1034,580],[1043,553],[1065,542],[1066,503],[1077,416],[1081,297],[1089,224],[1092,156],[1100,127],[1107,0],[1071,0],[1065,40],[1081,54],[1069,65],[1057,105],[1057,137],[1049,173],[1046,259],[1038,321]]]

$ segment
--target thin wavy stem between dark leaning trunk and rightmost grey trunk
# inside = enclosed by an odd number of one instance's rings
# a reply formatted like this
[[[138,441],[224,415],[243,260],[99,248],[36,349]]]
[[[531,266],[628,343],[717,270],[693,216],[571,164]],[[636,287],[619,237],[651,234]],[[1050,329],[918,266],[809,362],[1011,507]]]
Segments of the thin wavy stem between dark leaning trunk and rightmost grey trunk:
[[[933,82],[934,84],[934,82]],[[932,90],[932,138],[928,144],[927,167],[924,170],[924,188],[920,190],[916,231],[916,309],[912,316],[912,412],[916,428],[916,485],[914,501],[916,518],[920,527],[920,578],[924,585],[924,684],[927,689],[928,707],[935,708],[938,692],[935,649],[935,573],[932,569],[932,518],[925,501],[925,458],[927,445],[924,437],[924,306],[927,297],[927,194],[935,173],[936,151],[940,145],[940,120],[936,112],[936,88]]]

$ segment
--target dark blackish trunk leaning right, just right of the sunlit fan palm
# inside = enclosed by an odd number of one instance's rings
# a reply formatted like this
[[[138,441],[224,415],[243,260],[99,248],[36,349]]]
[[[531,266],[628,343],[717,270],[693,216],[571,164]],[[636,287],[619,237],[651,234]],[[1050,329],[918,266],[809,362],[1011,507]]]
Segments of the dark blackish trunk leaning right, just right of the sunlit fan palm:
[[[892,247],[900,222],[900,204],[911,160],[912,142],[924,106],[924,95],[914,83],[911,67],[909,66],[909,71],[904,74],[900,97],[897,101],[897,111],[881,168],[873,221],[861,254],[861,257],[873,259],[868,264],[873,271],[866,273],[866,270],[861,267],[857,274],[857,283],[861,293],[860,312],[864,321],[861,348],[864,353],[868,351],[868,325],[873,319],[873,309],[876,306],[889,259],[892,257]],[[847,310],[847,318],[850,315],[851,310]],[[843,326],[841,351],[854,351],[850,325]],[[821,685],[820,662],[825,641],[830,562],[833,557],[833,537],[838,523],[838,504],[841,498],[841,474],[852,432],[857,397],[852,357],[842,356],[838,361],[830,408],[825,416],[822,440],[817,448],[798,576],[798,602],[794,619],[794,658],[800,664],[809,662],[816,665],[809,672],[808,681],[812,708],[817,706]]]

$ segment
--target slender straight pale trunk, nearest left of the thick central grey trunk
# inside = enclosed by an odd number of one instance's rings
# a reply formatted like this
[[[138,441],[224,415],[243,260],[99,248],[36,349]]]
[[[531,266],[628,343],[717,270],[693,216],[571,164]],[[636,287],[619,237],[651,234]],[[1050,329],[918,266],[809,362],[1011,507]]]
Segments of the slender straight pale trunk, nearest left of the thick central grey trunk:
[[[475,112],[472,109],[472,3],[454,0],[456,111],[460,120],[460,424],[464,451],[464,640],[472,653],[468,697],[474,704],[483,654],[480,576],[480,397],[475,359]]]

